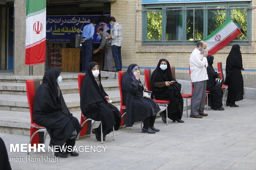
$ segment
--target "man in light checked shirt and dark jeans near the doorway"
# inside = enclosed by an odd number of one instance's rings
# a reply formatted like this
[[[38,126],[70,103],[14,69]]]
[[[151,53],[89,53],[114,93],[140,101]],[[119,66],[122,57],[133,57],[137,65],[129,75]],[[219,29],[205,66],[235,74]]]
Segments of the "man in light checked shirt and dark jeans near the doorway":
[[[122,56],[121,56],[121,47],[123,41],[123,29],[121,24],[116,22],[116,19],[111,16],[109,23],[113,26],[112,35],[108,37],[107,40],[113,39],[111,43],[112,55],[116,65],[116,72],[122,70]]]

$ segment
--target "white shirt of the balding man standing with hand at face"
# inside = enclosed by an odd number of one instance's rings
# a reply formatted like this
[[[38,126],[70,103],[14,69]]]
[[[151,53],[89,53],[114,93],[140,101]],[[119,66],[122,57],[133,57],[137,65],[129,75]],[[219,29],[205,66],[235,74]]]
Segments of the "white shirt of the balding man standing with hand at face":
[[[190,55],[190,78],[192,83],[208,80],[207,66],[207,58],[204,57],[197,48],[195,48]]]

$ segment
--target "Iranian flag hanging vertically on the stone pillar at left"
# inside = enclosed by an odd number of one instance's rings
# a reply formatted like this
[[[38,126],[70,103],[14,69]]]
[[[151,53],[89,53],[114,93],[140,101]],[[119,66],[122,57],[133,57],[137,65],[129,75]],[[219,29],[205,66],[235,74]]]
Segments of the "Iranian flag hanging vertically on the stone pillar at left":
[[[26,65],[45,63],[46,0],[26,0]]]

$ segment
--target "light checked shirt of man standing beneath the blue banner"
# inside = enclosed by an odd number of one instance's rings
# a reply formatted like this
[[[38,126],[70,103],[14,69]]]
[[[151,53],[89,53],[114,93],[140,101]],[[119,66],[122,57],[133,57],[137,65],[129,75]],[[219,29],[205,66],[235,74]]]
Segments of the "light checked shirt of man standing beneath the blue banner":
[[[112,30],[112,45],[116,45],[119,47],[122,47],[122,41],[123,41],[123,29],[121,24],[115,23]]]

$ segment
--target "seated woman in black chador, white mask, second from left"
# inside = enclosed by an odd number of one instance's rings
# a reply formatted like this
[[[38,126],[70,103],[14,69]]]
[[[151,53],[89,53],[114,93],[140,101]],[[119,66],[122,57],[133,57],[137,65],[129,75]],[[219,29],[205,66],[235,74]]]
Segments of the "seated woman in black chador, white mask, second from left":
[[[118,130],[121,123],[119,109],[110,103],[111,100],[101,84],[100,66],[96,62],[90,62],[81,85],[80,107],[85,117],[102,121],[103,140],[113,131],[113,126]],[[101,141],[100,126],[93,133]]]

